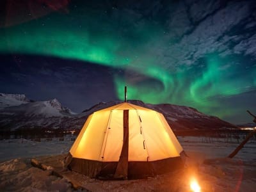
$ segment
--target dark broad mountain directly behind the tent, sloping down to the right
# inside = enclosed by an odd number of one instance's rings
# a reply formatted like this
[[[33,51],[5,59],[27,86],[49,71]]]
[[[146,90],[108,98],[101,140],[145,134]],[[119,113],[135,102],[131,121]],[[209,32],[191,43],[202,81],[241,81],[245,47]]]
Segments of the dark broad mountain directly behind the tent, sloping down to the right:
[[[84,113],[93,113],[99,109],[108,108],[121,101],[114,102],[100,102],[90,109],[83,111]],[[172,127],[174,132],[186,132],[191,131],[214,131],[220,129],[237,128],[236,125],[225,122],[216,116],[209,116],[201,113],[195,108],[189,108],[188,106],[178,106],[174,104],[145,104],[141,100],[129,100],[132,104],[142,106],[144,108],[154,109],[160,113],[163,113],[168,124]],[[81,113],[82,115],[83,113]]]

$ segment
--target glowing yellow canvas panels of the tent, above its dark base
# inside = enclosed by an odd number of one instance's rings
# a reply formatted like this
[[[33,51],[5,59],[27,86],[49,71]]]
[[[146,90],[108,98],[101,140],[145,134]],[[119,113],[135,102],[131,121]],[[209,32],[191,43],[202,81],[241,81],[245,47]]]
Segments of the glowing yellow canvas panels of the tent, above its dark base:
[[[124,138],[123,111],[127,109],[128,161],[157,161],[180,156],[183,149],[164,116],[126,102],[90,115],[72,145],[70,154],[79,159],[118,161]]]

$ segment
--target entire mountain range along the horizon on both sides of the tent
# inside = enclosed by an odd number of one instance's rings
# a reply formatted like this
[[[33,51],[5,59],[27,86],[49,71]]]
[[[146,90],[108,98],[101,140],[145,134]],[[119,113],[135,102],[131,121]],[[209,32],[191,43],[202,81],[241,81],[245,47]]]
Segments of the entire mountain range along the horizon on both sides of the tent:
[[[26,100],[19,106],[12,104],[10,107],[0,109],[0,129],[2,131],[37,127],[39,129],[81,129],[88,115],[120,102],[122,101],[100,102],[82,113],[75,114],[70,109],[63,107],[57,99],[36,102]],[[140,100],[129,100],[128,102],[163,113],[174,132],[212,131],[236,127],[236,125],[225,122],[216,116],[205,115],[187,106],[145,104]]]

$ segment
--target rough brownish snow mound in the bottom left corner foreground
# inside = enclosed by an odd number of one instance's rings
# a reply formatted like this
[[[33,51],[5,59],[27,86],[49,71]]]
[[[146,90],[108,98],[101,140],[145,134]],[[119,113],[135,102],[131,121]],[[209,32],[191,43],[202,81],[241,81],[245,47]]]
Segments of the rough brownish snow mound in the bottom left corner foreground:
[[[66,179],[31,166],[29,159],[0,163],[1,191],[74,191]]]

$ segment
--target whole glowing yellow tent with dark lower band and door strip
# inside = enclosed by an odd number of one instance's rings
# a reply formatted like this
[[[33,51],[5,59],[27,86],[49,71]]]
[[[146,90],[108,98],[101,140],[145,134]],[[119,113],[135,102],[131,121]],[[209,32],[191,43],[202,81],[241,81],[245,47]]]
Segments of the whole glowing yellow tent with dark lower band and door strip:
[[[182,152],[161,113],[123,102],[88,117],[65,163],[90,177],[135,179],[181,168]]]

